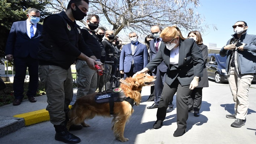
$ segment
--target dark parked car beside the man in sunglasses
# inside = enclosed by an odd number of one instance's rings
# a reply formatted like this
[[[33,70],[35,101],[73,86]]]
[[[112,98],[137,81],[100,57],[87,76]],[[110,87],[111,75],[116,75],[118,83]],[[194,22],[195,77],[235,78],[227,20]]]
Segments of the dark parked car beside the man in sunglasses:
[[[209,79],[215,80],[216,83],[228,81],[226,59],[227,56],[221,57],[220,54],[208,54],[206,68]]]

